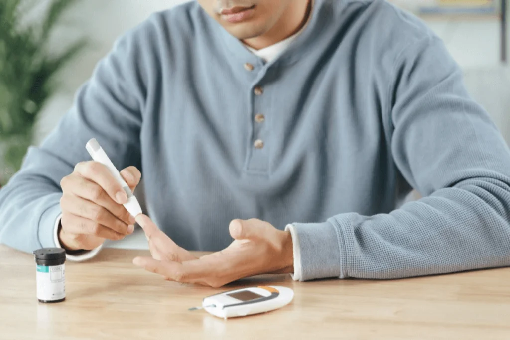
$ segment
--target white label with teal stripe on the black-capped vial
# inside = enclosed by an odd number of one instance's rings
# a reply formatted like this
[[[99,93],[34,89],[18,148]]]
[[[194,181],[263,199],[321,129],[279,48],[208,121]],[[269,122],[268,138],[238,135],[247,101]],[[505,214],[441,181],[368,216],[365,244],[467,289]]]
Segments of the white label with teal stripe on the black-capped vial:
[[[44,301],[65,297],[65,264],[60,266],[37,266],[37,298]]]

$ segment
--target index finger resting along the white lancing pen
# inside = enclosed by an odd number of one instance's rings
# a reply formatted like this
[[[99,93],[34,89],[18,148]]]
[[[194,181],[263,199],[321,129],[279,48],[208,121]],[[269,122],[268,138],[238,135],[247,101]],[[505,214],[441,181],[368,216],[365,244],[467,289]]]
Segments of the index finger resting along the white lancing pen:
[[[74,167],[74,171],[84,178],[97,183],[118,204],[127,202],[126,192],[106,165],[96,161],[80,162]]]

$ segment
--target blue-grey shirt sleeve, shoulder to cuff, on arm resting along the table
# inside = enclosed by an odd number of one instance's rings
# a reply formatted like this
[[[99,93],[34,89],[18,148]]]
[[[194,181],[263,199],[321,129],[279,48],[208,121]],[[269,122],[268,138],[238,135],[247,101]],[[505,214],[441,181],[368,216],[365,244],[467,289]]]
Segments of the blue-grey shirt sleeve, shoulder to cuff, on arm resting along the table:
[[[391,213],[293,223],[301,280],[510,265],[510,151],[443,42],[426,37],[408,47],[389,90],[390,143],[395,166],[422,198]]]

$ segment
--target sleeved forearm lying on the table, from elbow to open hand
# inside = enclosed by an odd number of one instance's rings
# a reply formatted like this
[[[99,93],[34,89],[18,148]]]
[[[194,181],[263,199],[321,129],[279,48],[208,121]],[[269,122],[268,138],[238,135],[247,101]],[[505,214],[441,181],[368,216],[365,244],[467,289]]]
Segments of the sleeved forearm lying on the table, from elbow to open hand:
[[[295,224],[301,280],[390,279],[510,265],[510,179],[473,178],[391,214]]]

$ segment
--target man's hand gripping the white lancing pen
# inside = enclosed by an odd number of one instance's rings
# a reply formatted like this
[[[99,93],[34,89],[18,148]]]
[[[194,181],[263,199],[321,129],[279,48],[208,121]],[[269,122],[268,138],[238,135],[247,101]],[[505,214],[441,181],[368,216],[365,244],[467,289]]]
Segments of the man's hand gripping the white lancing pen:
[[[140,171],[129,166],[120,172],[132,191]],[[67,250],[90,250],[105,239],[120,240],[133,233],[135,218],[122,204],[127,195],[108,168],[95,161],[80,162],[60,182],[63,196],[59,241]]]

